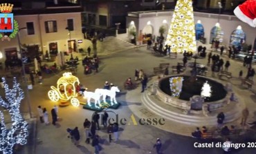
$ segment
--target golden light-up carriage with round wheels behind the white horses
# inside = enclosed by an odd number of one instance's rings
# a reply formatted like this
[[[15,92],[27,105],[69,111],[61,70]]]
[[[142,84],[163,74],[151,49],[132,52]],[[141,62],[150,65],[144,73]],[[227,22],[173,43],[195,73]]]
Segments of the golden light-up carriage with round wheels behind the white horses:
[[[64,73],[63,77],[60,77],[57,81],[57,88],[51,86],[52,90],[48,91],[48,97],[53,102],[58,102],[60,99],[64,101],[71,100],[73,106],[79,106],[80,102],[77,98],[76,85],[79,85],[80,81],[72,73]]]

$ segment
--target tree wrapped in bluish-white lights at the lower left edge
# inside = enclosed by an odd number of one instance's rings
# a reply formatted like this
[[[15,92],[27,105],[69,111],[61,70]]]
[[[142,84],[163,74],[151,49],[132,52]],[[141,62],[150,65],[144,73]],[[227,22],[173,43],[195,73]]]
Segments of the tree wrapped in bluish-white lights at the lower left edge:
[[[5,78],[2,79],[5,97],[0,97],[0,106],[8,110],[12,125],[10,128],[6,126],[3,111],[0,110],[0,151],[3,151],[3,154],[12,154],[15,144],[24,145],[27,143],[28,123],[19,111],[21,100],[24,99],[24,92],[20,88],[16,78],[13,80],[12,88],[9,88]]]

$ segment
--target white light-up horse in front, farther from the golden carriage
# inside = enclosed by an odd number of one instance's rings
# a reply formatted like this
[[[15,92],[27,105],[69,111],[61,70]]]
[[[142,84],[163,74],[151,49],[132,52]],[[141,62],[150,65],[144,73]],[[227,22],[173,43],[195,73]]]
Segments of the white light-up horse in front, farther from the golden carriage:
[[[112,86],[110,90],[107,89],[99,89],[97,88],[95,90],[95,93],[100,94],[100,96],[102,96],[102,99],[104,102],[106,102],[106,97],[109,96],[110,97],[110,102],[111,102],[111,106],[113,106],[113,102],[115,104],[118,104],[118,102],[116,102],[116,92],[119,93],[120,90],[118,89],[117,86]]]

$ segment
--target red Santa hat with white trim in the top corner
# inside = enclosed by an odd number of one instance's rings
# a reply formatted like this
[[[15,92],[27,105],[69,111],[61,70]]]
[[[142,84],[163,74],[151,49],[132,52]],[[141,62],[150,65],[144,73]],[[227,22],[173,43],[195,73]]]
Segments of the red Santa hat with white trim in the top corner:
[[[241,21],[256,27],[256,0],[247,0],[234,10],[235,15]]]

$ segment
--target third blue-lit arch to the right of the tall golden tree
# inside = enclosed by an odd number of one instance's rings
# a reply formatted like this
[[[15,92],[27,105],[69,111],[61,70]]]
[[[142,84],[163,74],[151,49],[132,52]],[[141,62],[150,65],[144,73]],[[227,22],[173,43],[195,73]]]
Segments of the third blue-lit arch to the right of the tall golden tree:
[[[241,46],[241,44],[244,44],[246,41],[246,33],[241,30],[240,28],[237,28],[234,30],[230,36],[230,44],[233,46]]]

